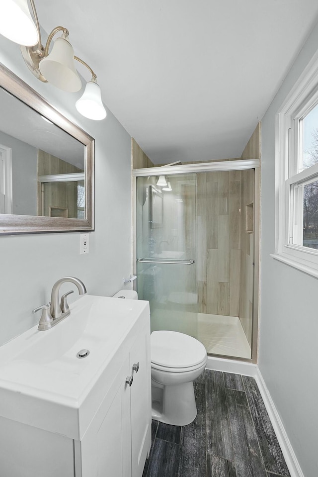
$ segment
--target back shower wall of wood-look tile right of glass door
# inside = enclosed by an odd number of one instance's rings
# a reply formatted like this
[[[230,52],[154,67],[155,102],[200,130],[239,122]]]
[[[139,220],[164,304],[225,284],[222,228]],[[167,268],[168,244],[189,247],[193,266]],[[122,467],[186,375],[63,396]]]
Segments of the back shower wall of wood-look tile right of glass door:
[[[199,312],[239,316],[240,171],[197,174]]]

